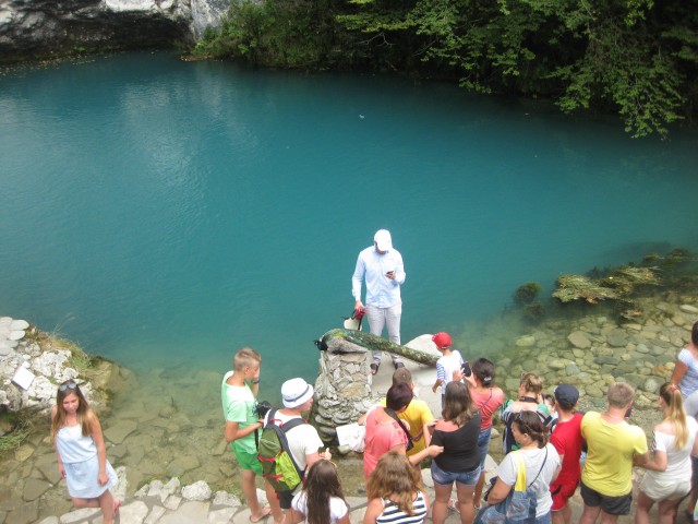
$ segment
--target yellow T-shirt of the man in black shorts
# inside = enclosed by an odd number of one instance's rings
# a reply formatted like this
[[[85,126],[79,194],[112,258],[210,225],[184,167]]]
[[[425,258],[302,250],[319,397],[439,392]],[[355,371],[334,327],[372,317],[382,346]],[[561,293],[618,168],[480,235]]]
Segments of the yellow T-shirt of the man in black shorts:
[[[622,497],[633,490],[633,458],[647,453],[642,429],[626,421],[609,424],[600,413],[589,412],[581,420],[587,441],[587,462],[581,481],[606,497]]]

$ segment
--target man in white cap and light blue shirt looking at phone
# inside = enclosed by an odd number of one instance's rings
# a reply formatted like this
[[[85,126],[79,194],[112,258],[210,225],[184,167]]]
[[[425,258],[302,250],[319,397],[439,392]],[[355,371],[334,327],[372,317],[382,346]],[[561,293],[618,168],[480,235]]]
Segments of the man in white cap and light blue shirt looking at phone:
[[[351,293],[356,300],[354,311],[361,310],[361,286],[365,281],[365,308],[371,334],[381,336],[383,327],[387,327],[388,340],[395,344],[400,343],[400,285],[405,282],[405,276],[402,255],[393,248],[390,231],[380,229],[373,237],[373,246],[359,253],[351,277]],[[372,374],[378,372],[381,357],[381,352],[373,352]],[[390,357],[396,369],[405,366],[396,355],[390,354]]]

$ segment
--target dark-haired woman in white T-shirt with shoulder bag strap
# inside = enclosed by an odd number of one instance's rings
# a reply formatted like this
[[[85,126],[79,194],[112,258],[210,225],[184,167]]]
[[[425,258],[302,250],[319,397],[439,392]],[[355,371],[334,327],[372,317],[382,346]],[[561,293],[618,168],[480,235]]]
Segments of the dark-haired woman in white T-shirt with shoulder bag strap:
[[[528,517],[525,522],[550,524],[553,505],[550,484],[559,474],[559,455],[547,442],[547,429],[537,413],[519,412],[514,417],[512,430],[519,448],[506,455],[500,464],[497,480],[485,502],[494,505],[506,499],[516,484],[519,467],[525,467],[526,489],[535,496],[535,516]],[[488,513],[493,510],[492,507],[481,510],[476,522],[493,522],[488,519]]]

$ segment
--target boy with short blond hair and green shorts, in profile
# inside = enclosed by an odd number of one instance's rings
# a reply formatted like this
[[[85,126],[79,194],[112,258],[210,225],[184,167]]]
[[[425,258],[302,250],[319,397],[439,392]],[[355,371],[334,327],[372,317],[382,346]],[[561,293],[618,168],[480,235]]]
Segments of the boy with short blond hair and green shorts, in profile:
[[[228,371],[222,378],[220,396],[226,418],[225,438],[231,443],[242,469],[242,492],[250,508],[250,521],[260,522],[270,513],[275,522],[281,522],[284,515],[274,488],[265,483],[270,508],[262,508],[255,485],[255,476],[262,475],[256,444],[257,429],[262,427],[256,413],[261,362],[262,357],[257,352],[244,347],[233,357],[232,371]]]

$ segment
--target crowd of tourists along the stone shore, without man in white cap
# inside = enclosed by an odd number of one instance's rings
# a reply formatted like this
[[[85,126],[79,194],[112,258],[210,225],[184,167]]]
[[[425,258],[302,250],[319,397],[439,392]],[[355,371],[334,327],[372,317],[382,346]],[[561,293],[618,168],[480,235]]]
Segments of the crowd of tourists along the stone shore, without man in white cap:
[[[369,499],[364,524],[419,524],[430,512],[432,522],[443,524],[448,511],[458,512],[464,524],[567,524],[569,499],[578,487],[580,522],[613,523],[630,512],[634,467],[647,471],[639,485],[636,524],[649,523],[654,503],[662,524],[674,522],[687,497],[694,519],[698,421],[697,413],[686,407],[695,405],[698,395],[698,322],[671,381],[659,390],[662,421],[654,427],[652,453],[642,429],[628,422],[635,396],[629,384],[609,386],[603,413],[581,414],[574,385],[557,384],[545,395],[541,379],[525,373],[517,397],[505,402],[494,385],[492,361],[479,358],[470,366],[453,349],[447,333],[432,340],[442,353],[433,388],[442,391],[441,417],[435,419],[426,403],[414,397],[411,373],[400,366],[385,398],[360,419],[365,425]],[[303,419],[312,407],[313,386],[301,378],[287,380],[280,389],[284,407],[264,407],[256,400],[261,362],[254,349],[240,349],[221,383],[224,434],[242,471],[250,520],[348,524],[349,507],[332,453]],[[495,414],[504,426],[505,456],[485,491]],[[75,381],[59,385],[51,421],[59,472],[75,508],[100,508],[104,522],[112,523],[121,503],[109,489],[117,478],[99,419]],[[265,454],[265,445],[274,442],[278,448]],[[284,468],[282,455],[292,467]],[[433,501],[419,469],[425,458],[431,458]],[[258,476],[268,505],[257,500]]]

